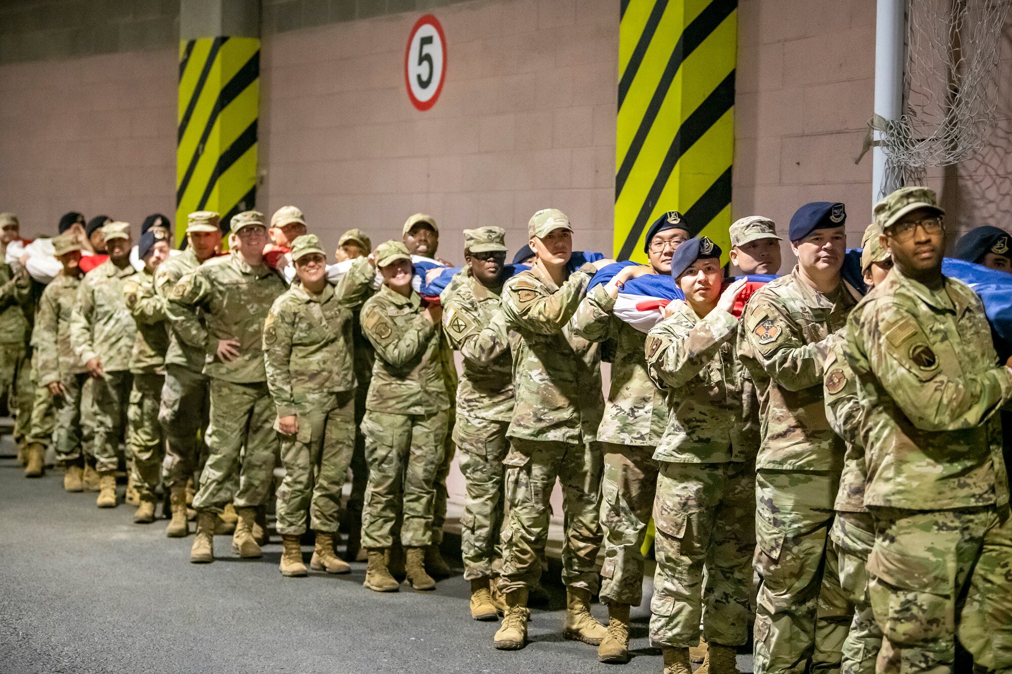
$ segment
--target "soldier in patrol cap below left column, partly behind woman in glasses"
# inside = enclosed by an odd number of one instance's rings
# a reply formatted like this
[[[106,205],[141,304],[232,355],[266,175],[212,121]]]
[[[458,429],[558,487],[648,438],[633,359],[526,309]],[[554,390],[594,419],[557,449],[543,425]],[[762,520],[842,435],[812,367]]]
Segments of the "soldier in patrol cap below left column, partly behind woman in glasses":
[[[180,278],[215,257],[222,243],[220,216],[213,210],[191,213],[186,221],[186,250],[155,269],[155,293],[168,303]],[[196,312],[198,317],[200,312]],[[169,321],[169,349],[165,353],[165,385],[162,387],[158,421],[165,437],[162,479],[169,490],[172,520],[165,529],[171,538],[189,533],[186,506],[192,503],[194,472],[202,468],[206,445],[200,435],[206,430],[209,384],[203,373],[204,348],[190,346]],[[226,515],[232,509],[226,506]],[[234,522],[233,522],[234,526]]]

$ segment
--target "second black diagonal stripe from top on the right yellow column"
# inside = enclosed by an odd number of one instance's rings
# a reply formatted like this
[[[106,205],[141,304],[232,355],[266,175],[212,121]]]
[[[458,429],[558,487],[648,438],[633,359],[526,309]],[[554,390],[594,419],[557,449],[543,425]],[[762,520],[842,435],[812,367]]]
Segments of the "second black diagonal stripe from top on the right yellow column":
[[[647,142],[647,136],[654,125],[654,119],[657,118],[657,113],[660,111],[661,105],[664,104],[664,99],[668,95],[668,89],[671,87],[678,69],[681,68],[685,59],[724,22],[724,19],[737,6],[738,0],[714,0],[678,36],[678,43],[671,53],[671,58],[668,59],[668,65],[664,68],[664,73],[657,84],[657,89],[654,90],[654,95],[651,96],[650,104],[647,105],[647,110],[644,112],[643,119],[640,120],[640,125],[636,130],[632,142],[629,143],[629,149],[625,152],[625,156],[622,157],[622,163],[615,174],[615,200],[622,193],[622,187],[625,186],[629,172],[636,165],[636,160],[640,157],[640,151],[643,150],[644,143]],[[621,106],[620,102],[619,106]]]

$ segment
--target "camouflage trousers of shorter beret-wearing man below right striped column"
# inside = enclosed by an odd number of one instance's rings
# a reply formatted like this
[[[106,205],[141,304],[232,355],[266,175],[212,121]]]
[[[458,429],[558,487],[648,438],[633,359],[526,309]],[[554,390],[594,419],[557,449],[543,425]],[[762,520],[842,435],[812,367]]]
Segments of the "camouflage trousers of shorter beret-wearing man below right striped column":
[[[700,618],[710,644],[748,641],[754,513],[753,464],[661,461],[654,501],[652,643],[695,646]]]

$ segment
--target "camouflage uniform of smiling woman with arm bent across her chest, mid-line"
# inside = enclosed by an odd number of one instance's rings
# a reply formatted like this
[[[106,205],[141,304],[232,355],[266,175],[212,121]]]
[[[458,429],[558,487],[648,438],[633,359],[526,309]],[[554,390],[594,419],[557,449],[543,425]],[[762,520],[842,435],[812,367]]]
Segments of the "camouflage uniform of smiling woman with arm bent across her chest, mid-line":
[[[405,298],[387,285],[362,307],[362,332],[376,355],[362,419],[369,465],[364,547],[390,547],[399,514],[406,547],[432,542],[433,483],[443,457],[449,396],[440,330],[422,311],[417,292]]]

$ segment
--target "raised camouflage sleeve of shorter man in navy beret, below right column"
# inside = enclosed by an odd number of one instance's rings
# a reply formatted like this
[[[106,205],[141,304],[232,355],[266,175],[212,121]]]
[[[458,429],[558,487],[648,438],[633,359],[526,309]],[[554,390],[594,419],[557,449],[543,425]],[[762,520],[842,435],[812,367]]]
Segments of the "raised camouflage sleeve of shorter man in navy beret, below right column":
[[[679,318],[665,319],[647,334],[647,371],[659,387],[685,386],[738,334],[737,319],[723,309],[693,326]]]

